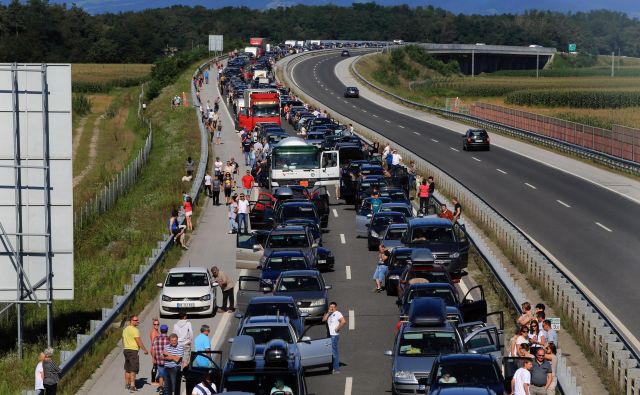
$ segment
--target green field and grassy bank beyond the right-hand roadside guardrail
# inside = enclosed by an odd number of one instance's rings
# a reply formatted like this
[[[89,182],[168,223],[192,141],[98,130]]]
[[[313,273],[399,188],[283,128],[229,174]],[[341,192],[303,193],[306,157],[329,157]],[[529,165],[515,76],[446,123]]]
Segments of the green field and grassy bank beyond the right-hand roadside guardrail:
[[[458,73],[444,75],[410,54],[398,66],[397,58],[367,56],[358,62],[358,71],[397,95],[439,107],[445,106],[446,98],[459,97],[467,104],[481,101],[603,128],[613,124],[640,127],[638,59],[623,59],[619,76],[613,78],[607,74],[606,57],[599,57],[591,67],[572,68],[559,56],[541,78],[535,78],[535,71],[471,78]],[[614,104],[617,108],[610,108]]]

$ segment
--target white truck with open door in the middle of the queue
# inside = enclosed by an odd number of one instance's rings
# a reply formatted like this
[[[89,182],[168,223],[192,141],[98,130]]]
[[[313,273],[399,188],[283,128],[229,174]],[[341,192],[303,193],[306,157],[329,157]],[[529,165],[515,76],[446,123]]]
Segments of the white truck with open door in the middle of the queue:
[[[316,187],[340,184],[338,151],[322,151],[299,137],[287,137],[271,150],[269,186]]]

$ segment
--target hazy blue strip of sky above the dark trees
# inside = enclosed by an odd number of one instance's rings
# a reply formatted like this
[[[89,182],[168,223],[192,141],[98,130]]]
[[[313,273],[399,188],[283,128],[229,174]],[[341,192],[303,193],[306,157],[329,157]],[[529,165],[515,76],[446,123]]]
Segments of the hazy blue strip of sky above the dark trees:
[[[138,11],[145,8],[168,7],[174,4],[182,5],[202,5],[208,8],[219,8],[226,6],[244,5],[250,8],[263,9],[287,6],[293,4],[336,4],[349,6],[352,0],[49,0],[50,3],[76,3],[87,12],[96,14],[103,12],[118,11]],[[0,3],[7,4],[10,0],[0,0]],[[627,13],[633,18],[640,19],[640,0],[378,0],[381,5],[408,4],[409,6],[428,6],[444,8],[454,13],[464,14],[502,14],[521,13],[528,9],[552,10],[560,12],[579,12],[594,9],[607,9]]]

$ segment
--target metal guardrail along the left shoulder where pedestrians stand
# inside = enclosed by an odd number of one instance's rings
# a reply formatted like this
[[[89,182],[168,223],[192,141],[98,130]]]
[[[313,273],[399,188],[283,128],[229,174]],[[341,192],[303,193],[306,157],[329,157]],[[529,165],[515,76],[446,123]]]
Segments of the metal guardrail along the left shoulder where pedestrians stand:
[[[205,66],[210,64],[212,61],[220,60],[223,57],[213,58],[206,63],[203,63],[198,67],[193,76],[197,76]],[[198,99],[196,96],[196,90],[193,84],[191,84],[191,100],[193,103],[198,103]],[[194,107],[197,109],[197,107]],[[200,129],[200,144],[201,144],[201,153],[200,153],[200,162],[198,164],[198,171],[193,179],[193,184],[191,187],[191,196],[193,198],[194,204],[197,202],[199,192],[203,188],[204,184],[204,174],[206,171],[207,164],[209,162],[209,140],[206,129],[204,128],[204,124],[202,123],[199,112],[195,111],[196,119],[198,120],[198,127]],[[145,123],[150,124],[149,120],[144,118]],[[180,223],[184,222],[184,213],[181,213],[178,220]],[[131,284],[124,285],[124,294],[123,295],[114,295],[113,296],[113,306],[111,308],[103,308],[102,309],[102,319],[101,320],[91,320],[89,324],[89,333],[88,334],[79,334],[76,338],[76,349],[73,351],[60,351],[60,371],[61,375],[64,376],[68,372],[71,371],[73,366],[80,361],[80,359],[87,353],[94,343],[109,329],[111,323],[121,314],[129,301],[133,298],[133,296],[138,292],[144,280],[147,278],[149,273],[151,273],[158,262],[162,259],[165,253],[171,248],[173,245],[171,235],[167,234],[162,240],[158,242],[157,248],[154,248],[151,253],[151,257],[147,259],[145,264],[140,265],[140,271],[137,274],[131,275]],[[22,391],[24,395],[36,395],[35,391]]]

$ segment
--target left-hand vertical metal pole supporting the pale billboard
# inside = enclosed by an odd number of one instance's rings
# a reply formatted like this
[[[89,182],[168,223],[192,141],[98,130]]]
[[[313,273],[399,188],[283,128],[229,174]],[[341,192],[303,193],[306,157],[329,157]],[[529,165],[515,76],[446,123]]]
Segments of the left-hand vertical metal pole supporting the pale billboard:
[[[18,65],[11,65],[12,96],[13,96],[13,164],[14,164],[14,184],[15,184],[15,212],[16,212],[16,249],[15,260],[18,267],[22,268],[22,170],[20,155],[20,100],[18,98]],[[21,272],[16,271],[17,295],[16,300],[22,300],[22,279]],[[22,359],[22,304],[16,305],[16,318],[18,322],[18,358]]]

